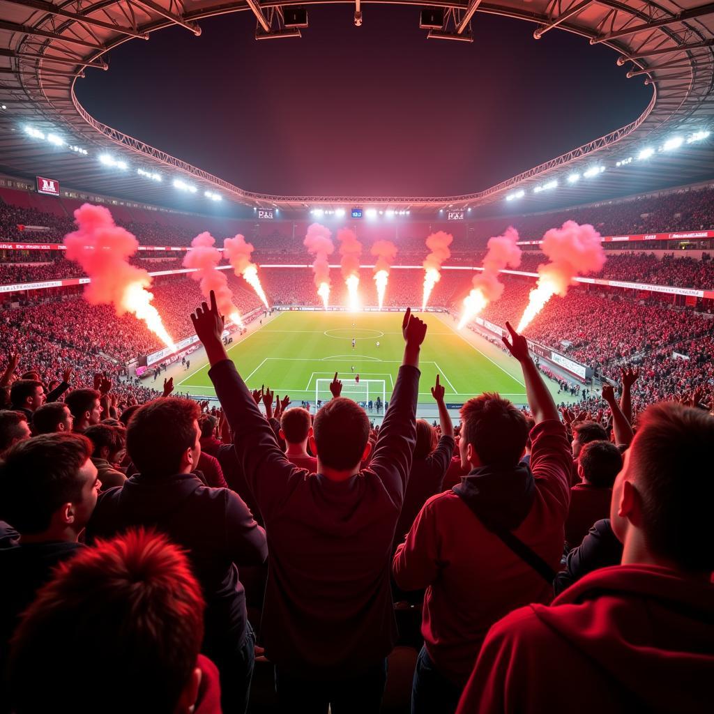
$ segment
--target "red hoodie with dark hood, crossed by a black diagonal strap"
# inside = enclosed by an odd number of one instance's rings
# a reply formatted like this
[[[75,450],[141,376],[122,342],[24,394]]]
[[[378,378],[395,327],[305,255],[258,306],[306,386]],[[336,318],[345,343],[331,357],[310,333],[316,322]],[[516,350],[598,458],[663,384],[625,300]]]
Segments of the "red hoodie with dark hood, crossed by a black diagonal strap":
[[[570,500],[570,445],[555,420],[535,426],[531,439],[531,469],[478,468],[454,490],[478,499],[483,513],[557,570]],[[426,650],[438,670],[461,686],[488,628],[526,603],[548,602],[553,592],[454,491],[426,502],[394,556],[393,575],[403,590],[426,588]]]

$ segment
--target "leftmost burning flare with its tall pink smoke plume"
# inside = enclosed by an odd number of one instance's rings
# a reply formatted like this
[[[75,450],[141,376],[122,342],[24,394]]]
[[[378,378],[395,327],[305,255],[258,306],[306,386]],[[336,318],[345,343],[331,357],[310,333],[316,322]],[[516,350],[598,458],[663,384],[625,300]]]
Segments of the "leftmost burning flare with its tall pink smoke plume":
[[[91,305],[111,304],[118,315],[130,312],[171,349],[176,345],[151,301],[154,295],[146,288],[151,276],[143,268],[129,263],[139,248],[139,241],[114,223],[108,208],[91,203],[74,211],[77,230],[64,236],[66,257],[80,264],[91,278],[84,298]]]

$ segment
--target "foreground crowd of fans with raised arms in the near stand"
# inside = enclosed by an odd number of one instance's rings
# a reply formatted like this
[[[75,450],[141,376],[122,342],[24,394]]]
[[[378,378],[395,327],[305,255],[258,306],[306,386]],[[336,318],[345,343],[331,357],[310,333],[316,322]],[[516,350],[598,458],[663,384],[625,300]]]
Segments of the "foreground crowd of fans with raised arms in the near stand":
[[[58,344],[62,308],[41,316]],[[93,312],[82,348],[104,359],[119,347]],[[77,315],[64,304],[94,319]],[[688,360],[613,371],[597,411],[559,413],[510,329],[528,411],[484,393],[455,427],[437,378],[431,426],[433,338],[406,311],[376,429],[338,376],[314,417],[248,391],[215,300],[185,320],[220,408],[171,381],[126,401],[99,362],[50,380],[41,326],[22,343],[3,325],[21,354],[0,376],[0,711],[376,714],[386,690],[415,714],[705,710],[708,333],[675,343]],[[661,401],[659,371],[700,383]]]

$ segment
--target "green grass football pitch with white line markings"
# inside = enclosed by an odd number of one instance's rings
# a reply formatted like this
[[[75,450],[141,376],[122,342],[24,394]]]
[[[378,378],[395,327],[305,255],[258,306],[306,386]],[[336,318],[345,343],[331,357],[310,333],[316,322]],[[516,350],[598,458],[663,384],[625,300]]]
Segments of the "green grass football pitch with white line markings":
[[[521,368],[513,358],[486,341],[476,345],[467,341],[451,328],[448,317],[420,316],[428,323],[421,350],[420,403],[433,403],[429,390],[437,373],[447,402],[463,403],[483,391],[498,391],[515,403],[526,403]],[[264,384],[281,396],[287,393],[293,403],[314,403],[318,379],[326,380],[321,383],[320,398],[329,398],[328,382],[334,373],[348,380],[353,378],[352,366],[361,385],[346,386],[343,396],[363,401],[365,381],[375,380],[369,385],[370,398],[381,396],[383,381],[389,400],[404,349],[401,320],[400,313],[284,312],[233,344],[228,356],[249,388]],[[351,393],[351,389],[356,391]],[[208,366],[188,373],[178,390],[192,396],[215,395]]]

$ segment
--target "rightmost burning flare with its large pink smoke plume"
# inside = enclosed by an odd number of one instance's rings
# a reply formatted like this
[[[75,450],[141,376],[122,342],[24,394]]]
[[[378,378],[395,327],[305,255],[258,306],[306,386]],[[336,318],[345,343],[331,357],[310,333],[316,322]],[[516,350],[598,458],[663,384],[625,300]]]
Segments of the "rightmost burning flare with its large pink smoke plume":
[[[538,283],[528,296],[528,306],[516,332],[523,332],[556,293],[565,297],[576,275],[596,273],[605,265],[600,233],[587,223],[565,221],[562,228],[550,228],[540,249],[550,258],[538,266]]]

